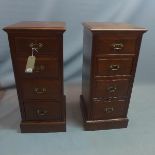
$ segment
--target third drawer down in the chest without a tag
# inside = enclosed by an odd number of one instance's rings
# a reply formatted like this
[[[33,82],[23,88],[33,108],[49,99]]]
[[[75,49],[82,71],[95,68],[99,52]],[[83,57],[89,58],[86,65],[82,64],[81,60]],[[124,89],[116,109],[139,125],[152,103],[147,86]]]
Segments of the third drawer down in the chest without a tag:
[[[93,97],[125,97],[128,95],[128,79],[96,80],[93,85]]]

